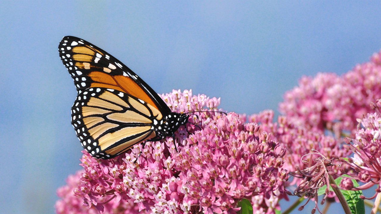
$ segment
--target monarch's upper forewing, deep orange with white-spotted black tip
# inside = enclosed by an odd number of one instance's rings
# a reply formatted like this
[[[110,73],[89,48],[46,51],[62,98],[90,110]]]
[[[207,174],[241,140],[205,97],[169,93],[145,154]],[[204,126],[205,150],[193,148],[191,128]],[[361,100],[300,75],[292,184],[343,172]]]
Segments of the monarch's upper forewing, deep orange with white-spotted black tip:
[[[71,36],[62,38],[58,49],[78,94],[87,88],[110,88],[141,99],[162,113],[171,112],[147,83],[106,51]]]

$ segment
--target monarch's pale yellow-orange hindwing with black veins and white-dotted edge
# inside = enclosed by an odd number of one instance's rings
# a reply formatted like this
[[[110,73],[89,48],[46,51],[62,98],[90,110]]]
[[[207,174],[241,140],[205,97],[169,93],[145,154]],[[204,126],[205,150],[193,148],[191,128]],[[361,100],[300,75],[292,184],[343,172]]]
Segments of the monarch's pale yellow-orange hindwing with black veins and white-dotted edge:
[[[72,125],[83,148],[103,159],[154,138],[154,120],[161,118],[147,102],[110,88],[85,89],[72,107]]]

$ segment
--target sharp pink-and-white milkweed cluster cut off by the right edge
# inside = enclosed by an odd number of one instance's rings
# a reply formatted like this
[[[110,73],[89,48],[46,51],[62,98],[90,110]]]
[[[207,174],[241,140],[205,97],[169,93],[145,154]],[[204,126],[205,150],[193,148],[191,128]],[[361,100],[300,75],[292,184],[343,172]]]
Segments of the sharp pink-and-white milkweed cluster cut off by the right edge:
[[[351,178],[344,177],[341,188],[348,190],[364,190],[378,184],[376,193],[370,199],[381,192],[381,114],[379,112],[381,101],[373,104],[375,113],[368,113],[359,123],[363,128],[356,131],[354,139],[346,138],[346,148],[354,153],[353,158],[340,158],[341,161],[351,166],[356,174]],[[359,180],[364,184],[354,187],[351,179]]]

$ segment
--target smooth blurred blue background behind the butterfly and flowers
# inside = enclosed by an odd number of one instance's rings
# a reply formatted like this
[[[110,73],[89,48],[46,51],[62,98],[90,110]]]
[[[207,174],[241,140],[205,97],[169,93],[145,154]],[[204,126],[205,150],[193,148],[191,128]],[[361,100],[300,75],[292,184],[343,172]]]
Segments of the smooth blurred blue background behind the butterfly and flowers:
[[[276,111],[302,75],[368,61],[380,20],[381,2],[363,1],[0,1],[0,213],[54,213],[81,168],[62,37],[106,50],[157,93],[192,89],[252,114]]]

